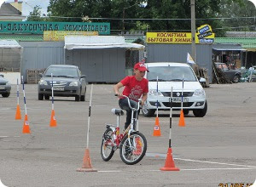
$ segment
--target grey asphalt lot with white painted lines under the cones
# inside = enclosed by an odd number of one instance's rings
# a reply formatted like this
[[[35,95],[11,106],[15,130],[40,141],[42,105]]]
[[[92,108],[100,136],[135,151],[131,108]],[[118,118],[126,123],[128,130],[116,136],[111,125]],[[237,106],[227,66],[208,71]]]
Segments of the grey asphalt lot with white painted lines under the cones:
[[[126,165],[116,150],[102,161],[102,133],[115,123],[110,112],[119,108],[112,84],[95,84],[90,116],[89,150],[97,172],[77,172],[87,144],[90,85],[85,102],[55,98],[57,127],[49,127],[51,101],[38,100],[37,85],[26,84],[26,107],[31,133],[22,133],[25,115],[15,120],[16,87],[0,96],[0,179],[6,186],[248,186],[256,179],[256,83],[210,85],[207,115],[190,111],[185,127],[172,116],[172,152],[178,172],[163,172],[170,132],[169,112],[160,111],[160,137],[154,137],[154,117],[139,116],[139,131],[148,150],[136,165]],[[124,124],[125,116],[121,118]],[[236,185],[235,185],[236,184]],[[238,185],[243,184],[243,185]],[[1,184],[0,184],[1,186]]]

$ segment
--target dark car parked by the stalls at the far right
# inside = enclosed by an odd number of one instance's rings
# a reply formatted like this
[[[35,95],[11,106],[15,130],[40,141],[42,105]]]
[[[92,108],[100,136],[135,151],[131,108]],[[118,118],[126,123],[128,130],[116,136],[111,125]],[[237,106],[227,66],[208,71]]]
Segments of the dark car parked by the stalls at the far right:
[[[241,71],[231,70],[225,63],[215,62],[215,65],[224,72],[231,82],[237,83],[241,79]]]

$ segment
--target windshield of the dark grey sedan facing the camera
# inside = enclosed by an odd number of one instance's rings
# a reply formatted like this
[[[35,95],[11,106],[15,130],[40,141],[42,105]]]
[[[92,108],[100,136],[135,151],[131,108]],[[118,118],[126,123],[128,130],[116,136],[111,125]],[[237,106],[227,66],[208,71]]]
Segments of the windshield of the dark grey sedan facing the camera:
[[[78,71],[74,67],[49,67],[44,76],[51,77],[51,73],[53,77],[79,77]]]

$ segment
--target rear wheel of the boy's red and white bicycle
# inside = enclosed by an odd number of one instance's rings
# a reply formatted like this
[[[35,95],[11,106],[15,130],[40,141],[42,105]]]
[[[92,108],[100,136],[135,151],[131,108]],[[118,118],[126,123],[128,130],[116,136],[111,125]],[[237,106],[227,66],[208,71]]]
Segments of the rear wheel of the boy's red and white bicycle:
[[[102,136],[101,155],[103,161],[109,161],[113,156],[113,130],[108,128]]]

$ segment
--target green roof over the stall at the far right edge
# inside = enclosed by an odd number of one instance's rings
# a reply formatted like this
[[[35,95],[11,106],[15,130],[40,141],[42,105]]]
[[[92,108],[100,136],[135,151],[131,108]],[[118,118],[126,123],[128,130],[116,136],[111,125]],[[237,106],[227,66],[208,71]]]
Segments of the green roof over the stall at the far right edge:
[[[256,37],[215,37],[215,43],[238,43],[241,48],[256,48]]]

